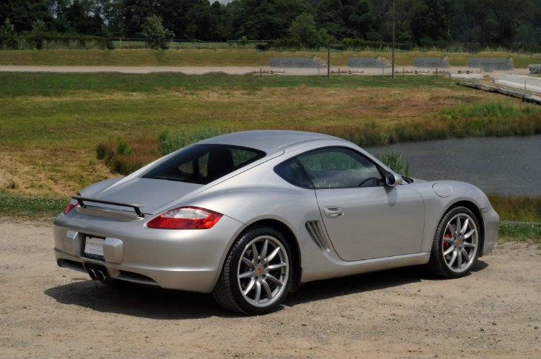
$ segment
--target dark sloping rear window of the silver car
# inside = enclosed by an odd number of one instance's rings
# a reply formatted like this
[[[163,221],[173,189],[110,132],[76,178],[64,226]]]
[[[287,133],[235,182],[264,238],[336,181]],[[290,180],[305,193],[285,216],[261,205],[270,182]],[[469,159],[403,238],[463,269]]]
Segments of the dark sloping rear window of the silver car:
[[[265,152],[253,148],[193,145],[150,169],[142,178],[205,185],[262,157]]]

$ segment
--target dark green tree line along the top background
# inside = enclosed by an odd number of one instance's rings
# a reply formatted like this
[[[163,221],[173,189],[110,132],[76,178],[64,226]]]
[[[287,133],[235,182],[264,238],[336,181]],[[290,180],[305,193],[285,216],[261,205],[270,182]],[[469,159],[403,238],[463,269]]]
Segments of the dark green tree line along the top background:
[[[394,11],[393,11],[394,4]],[[3,0],[0,41],[54,36],[265,40],[277,46],[396,42],[541,44],[541,0]]]

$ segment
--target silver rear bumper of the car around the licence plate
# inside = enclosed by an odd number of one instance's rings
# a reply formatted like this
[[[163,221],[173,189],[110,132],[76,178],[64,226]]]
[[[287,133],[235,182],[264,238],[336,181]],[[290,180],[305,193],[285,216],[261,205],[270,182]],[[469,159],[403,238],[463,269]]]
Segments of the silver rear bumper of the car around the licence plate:
[[[82,272],[99,267],[111,279],[209,293],[242,229],[226,216],[212,229],[177,231],[149,229],[143,221],[61,214],[54,222],[54,255],[60,267]],[[106,238],[103,259],[85,255],[87,236]]]

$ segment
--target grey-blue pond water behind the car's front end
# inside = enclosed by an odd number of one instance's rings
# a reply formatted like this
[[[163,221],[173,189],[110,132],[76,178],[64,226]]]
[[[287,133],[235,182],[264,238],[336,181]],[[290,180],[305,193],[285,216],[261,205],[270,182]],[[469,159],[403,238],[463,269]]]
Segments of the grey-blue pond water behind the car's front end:
[[[454,138],[366,150],[402,154],[414,178],[464,181],[485,193],[541,195],[541,135]]]

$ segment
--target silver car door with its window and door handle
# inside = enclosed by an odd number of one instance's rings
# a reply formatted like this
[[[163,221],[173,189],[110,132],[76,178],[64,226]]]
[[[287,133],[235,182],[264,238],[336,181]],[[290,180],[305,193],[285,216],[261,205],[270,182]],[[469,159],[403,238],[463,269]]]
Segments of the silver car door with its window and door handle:
[[[329,147],[302,154],[327,235],[341,259],[366,260],[420,251],[423,197],[407,184],[384,185],[363,154]]]

